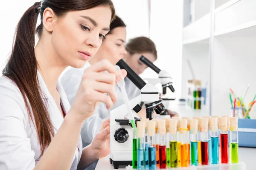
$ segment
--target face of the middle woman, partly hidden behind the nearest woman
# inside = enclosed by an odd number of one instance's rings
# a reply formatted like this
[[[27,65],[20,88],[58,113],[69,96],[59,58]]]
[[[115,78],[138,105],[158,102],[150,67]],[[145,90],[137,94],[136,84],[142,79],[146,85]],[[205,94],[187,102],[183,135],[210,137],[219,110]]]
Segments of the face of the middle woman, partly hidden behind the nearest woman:
[[[102,45],[97,52],[97,56],[102,59],[108,59],[113,65],[122,59],[127,54],[125,50],[126,28],[116,27],[111,31],[111,34],[106,35]]]

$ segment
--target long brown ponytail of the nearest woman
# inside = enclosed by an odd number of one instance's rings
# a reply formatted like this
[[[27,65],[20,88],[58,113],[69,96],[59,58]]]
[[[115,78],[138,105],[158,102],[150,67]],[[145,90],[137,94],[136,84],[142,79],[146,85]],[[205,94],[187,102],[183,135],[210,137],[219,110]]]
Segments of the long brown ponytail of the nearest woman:
[[[3,75],[12,79],[20,89],[29,117],[37,130],[41,157],[54,136],[54,130],[41,97],[34,51],[40,6],[41,2],[36,2],[21,17],[15,32],[12,54],[3,70]],[[42,27],[42,24],[39,27]]]

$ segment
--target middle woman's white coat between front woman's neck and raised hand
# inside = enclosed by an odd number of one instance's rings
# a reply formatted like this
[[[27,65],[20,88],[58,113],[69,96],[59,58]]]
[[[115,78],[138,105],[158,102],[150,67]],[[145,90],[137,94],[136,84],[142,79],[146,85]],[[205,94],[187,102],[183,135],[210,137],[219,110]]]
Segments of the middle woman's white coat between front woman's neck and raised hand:
[[[84,69],[82,68],[70,68],[61,77],[61,85],[67,95],[67,99],[70,102],[70,105],[72,105],[76,93],[79,89],[83,74]]]

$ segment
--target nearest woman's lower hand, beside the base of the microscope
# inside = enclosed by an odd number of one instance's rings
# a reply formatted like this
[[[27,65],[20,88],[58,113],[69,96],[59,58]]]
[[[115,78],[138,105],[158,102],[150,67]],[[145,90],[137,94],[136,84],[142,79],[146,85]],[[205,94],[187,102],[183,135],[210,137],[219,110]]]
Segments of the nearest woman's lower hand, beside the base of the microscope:
[[[103,158],[110,153],[109,118],[102,122],[99,133],[93,138],[91,147],[97,158]]]

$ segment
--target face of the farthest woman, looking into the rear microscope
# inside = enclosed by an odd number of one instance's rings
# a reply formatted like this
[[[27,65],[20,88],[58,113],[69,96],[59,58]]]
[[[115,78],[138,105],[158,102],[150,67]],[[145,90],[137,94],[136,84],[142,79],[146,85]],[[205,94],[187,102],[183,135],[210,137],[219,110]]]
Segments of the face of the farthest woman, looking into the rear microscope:
[[[146,57],[149,61],[154,62],[156,59],[152,53],[135,53],[133,55],[128,54],[125,58],[125,62],[137,73],[142,74],[143,71],[148,67],[140,61],[140,56]]]

